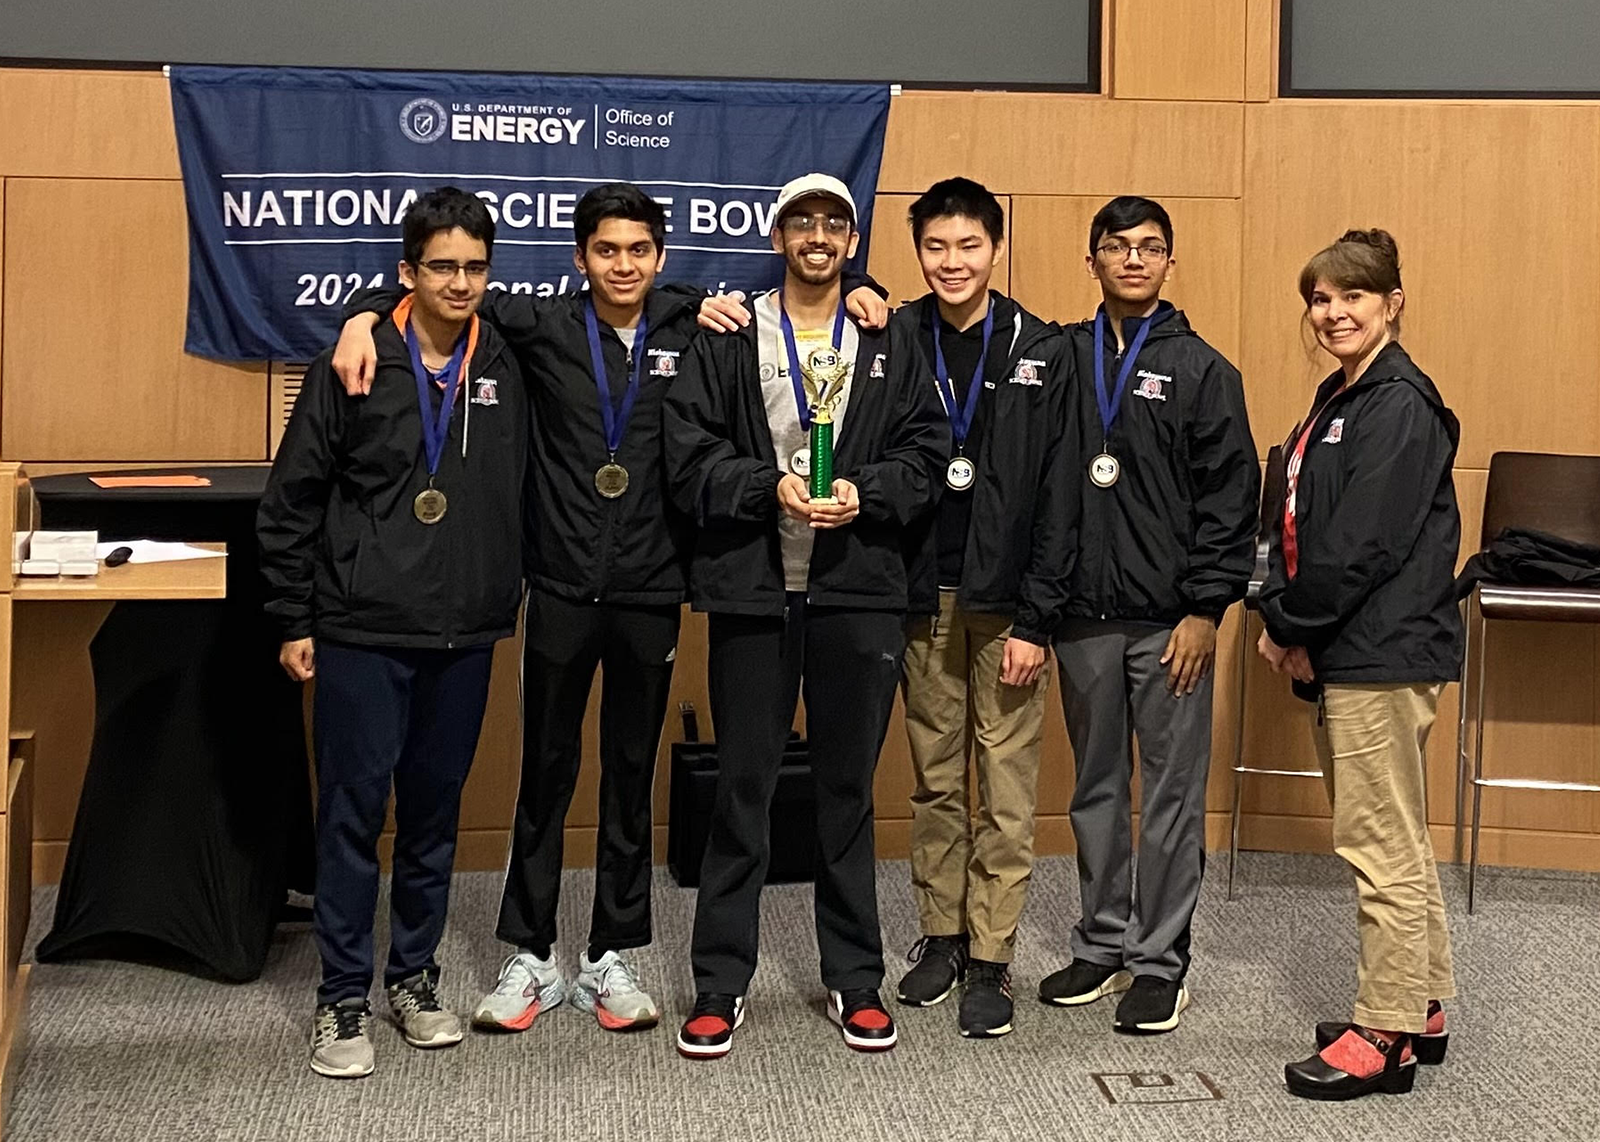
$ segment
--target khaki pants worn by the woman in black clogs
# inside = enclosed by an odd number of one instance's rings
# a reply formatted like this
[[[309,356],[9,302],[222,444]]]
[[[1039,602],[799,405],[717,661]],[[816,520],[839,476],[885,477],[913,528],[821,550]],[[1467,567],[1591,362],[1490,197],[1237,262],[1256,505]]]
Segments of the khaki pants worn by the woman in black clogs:
[[[1422,1032],[1427,1001],[1456,993],[1424,793],[1422,750],[1442,689],[1333,685],[1312,715],[1333,849],[1355,870],[1355,1022],[1365,1027]]]

